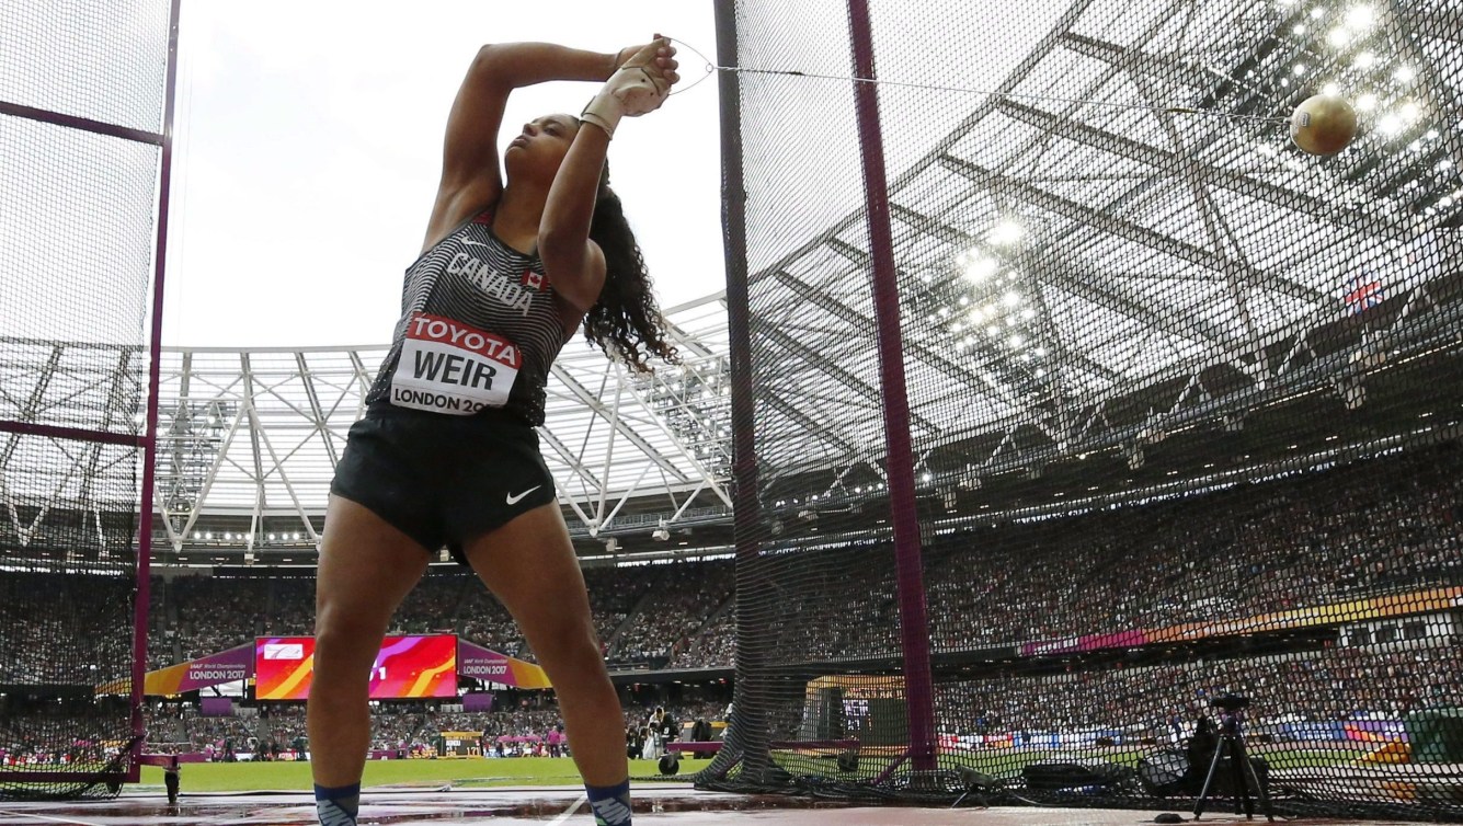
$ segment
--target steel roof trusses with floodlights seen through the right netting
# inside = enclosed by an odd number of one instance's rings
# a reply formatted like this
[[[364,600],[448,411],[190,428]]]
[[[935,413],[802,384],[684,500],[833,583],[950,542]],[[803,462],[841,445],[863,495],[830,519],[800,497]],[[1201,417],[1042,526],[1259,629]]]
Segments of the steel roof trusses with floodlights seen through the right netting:
[[[928,152],[887,161],[926,482],[1131,447],[1318,387],[1346,393],[1366,364],[1358,352],[1434,342],[1444,327],[1429,322],[1441,310],[1428,281],[1459,269],[1463,134],[1448,113],[1463,64],[1437,60],[1457,44],[1431,39],[1443,28],[1429,19],[1456,12],[1371,7],[1415,77],[1375,82],[1377,114],[1333,161],[1289,145],[1283,120],[1311,92],[1280,83],[1302,60],[1355,75],[1325,53],[1327,22],[1309,3],[1208,0],[1074,3],[998,94],[958,98],[973,104]],[[1295,34],[1301,22],[1321,48]],[[743,101],[789,82],[743,76]],[[881,88],[885,132],[907,117],[901,104],[930,108],[920,94]],[[1410,121],[1380,123],[1404,99],[1421,102]],[[781,136],[746,140],[775,158]],[[771,232],[756,225],[755,186],[752,237]],[[749,253],[758,430],[778,434],[759,437],[765,484],[811,472],[835,493],[859,465],[854,477],[882,477],[868,447],[882,424],[866,215],[802,240],[778,227],[781,251]],[[1353,325],[1334,352],[1320,338],[1356,314],[1346,294],[1361,278],[1402,310]]]

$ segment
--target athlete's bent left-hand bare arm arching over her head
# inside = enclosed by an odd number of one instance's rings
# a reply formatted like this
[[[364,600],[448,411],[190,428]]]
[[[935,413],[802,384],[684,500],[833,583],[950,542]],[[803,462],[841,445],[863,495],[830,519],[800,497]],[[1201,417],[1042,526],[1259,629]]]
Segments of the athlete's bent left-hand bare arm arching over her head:
[[[477,50],[448,115],[442,180],[423,249],[502,193],[497,129],[514,89],[549,80],[606,80],[631,54],[632,50],[604,54],[550,42],[489,44]]]

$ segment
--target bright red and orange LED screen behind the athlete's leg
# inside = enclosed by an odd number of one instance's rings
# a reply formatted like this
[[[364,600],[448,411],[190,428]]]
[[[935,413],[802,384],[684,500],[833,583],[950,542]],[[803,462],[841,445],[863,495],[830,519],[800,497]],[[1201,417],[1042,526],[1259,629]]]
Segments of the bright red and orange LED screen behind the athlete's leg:
[[[255,697],[303,700],[315,674],[315,637],[259,637],[255,646]],[[373,700],[456,696],[456,637],[389,636],[370,672]]]

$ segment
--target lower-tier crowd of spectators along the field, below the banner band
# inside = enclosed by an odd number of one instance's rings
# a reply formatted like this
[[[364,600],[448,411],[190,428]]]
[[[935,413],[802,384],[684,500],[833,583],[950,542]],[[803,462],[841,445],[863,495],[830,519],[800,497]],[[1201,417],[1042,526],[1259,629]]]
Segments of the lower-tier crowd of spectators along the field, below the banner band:
[[[1251,700],[1249,730],[1274,737],[1283,737],[1287,724],[1402,721],[1419,711],[1456,708],[1463,696],[1457,643],[1453,636],[1416,645],[1327,646],[1210,661],[1116,661],[1055,674],[993,668],[993,675],[985,678],[938,681],[936,725],[942,737],[966,743],[1020,744],[1021,738],[1031,741],[1049,732],[1088,732],[1162,746],[1191,734],[1198,716],[1213,713],[1210,702],[1230,693]],[[379,703],[372,715],[370,747],[430,754],[442,732],[467,731],[480,737],[489,753],[547,754],[540,744],[553,743],[550,732],[563,731],[549,694],[490,712],[459,708],[442,708],[439,700]],[[12,703],[4,711],[0,751],[12,760],[63,760],[97,743],[116,746],[130,732],[126,709],[114,702]],[[710,694],[676,703],[626,697],[626,750],[632,757],[654,756],[664,741],[682,738],[685,724],[726,721],[727,711],[723,699]],[[774,737],[794,740],[803,732],[806,708],[787,703],[771,712],[767,718],[777,728]],[[203,716],[189,703],[159,702],[146,706],[146,724],[152,753],[269,760],[293,757],[307,747],[303,703],[257,703],[240,708],[234,716]],[[60,728],[66,737],[56,734]],[[496,749],[499,743],[502,749]]]

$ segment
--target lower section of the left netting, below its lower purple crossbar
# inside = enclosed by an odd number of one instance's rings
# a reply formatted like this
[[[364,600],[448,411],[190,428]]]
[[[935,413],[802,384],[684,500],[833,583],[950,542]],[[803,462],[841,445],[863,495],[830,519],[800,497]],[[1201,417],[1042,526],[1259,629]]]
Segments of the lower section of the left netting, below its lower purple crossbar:
[[[139,459],[0,433],[0,797],[105,794],[130,759]]]

